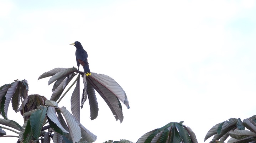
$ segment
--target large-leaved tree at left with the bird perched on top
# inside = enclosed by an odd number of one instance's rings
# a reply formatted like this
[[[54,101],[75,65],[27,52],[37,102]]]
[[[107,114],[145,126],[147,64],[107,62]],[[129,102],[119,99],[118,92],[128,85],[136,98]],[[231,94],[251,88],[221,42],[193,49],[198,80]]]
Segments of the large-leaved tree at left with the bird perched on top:
[[[79,102],[80,75],[82,75],[84,84],[81,104]],[[0,87],[0,110],[1,116],[4,118],[0,119],[0,124],[7,126],[0,126],[0,128],[17,133],[19,136],[15,137],[19,137],[18,142],[39,142],[42,140],[44,143],[49,143],[51,139],[56,143],[62,143],[63,141],[73,143],[94,142],[96,136],[80,124],[79,108],[83,108],[83,104],[88,98],[90,119],[93,120],[98,116],[99,109],[95,90],[108,104],[116,120],[122,122],[124,118],[121,102],[128,109],[130,108],[125,91],[109,76],[96,73],[85,76],[84,72],[80,72],[74,67],[54,68],[43,73],[38,80],[50,76],[48,85],[54,82],[50,100],[40,95],[28,96],[26,80],[15,80]],[[75,76],[77,78],[73,84],[63,93]],[[66,107],[59,107],[58,104],[74,84],[76,86],[70,99],[72,112],[70,114]],[[8,120],[7,112],[10,103],[12,109],[16,112],[20,111],[23,116],[24,124],[22,126],[13,120]],[[1,137],[8,137],[2,130],[0,131]]]

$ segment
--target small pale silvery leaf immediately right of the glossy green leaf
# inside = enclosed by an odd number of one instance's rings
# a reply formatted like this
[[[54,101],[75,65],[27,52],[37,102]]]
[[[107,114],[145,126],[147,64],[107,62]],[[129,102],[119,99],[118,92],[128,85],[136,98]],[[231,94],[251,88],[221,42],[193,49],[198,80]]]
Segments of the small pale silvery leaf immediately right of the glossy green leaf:
[[[68,133],[67,130],[61,125],[61,122],[59,122],[58,117],[56,115],[56,110],[54,107],[49,106],[47,110],[47,116],[51,121],[56,124],[63,132]],[[53,128],[54,129],[54,128]],[[55,129],[54,129],[55,130]]]

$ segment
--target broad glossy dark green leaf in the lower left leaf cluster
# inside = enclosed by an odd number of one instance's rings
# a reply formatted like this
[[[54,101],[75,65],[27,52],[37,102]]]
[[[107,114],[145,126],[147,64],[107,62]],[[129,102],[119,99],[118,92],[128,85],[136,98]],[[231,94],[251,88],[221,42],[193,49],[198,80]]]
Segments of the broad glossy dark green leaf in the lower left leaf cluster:
[[[41,133],[43,121],[45,120],[46,108],[35,111],[30,116],[30,124],[33,137],[38,139]]]

